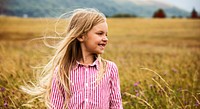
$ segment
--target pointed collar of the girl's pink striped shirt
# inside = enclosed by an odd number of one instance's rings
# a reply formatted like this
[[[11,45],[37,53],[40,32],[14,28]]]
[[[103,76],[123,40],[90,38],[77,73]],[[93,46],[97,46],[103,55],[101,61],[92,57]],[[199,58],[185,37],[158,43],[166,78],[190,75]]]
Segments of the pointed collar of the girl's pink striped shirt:
[[[88,67],[95,67],[97,70],[99,70],[99,65],[100,65],[100,63],[99,63],[99,60],[98,60],[98,58],[92,63],[92,64],[90,64],[90,65],[88,65]],[[76,61],[76,64],[75,64],[75,66],[73,67],[73,69],[74,70],[76,70],[78,67],[80,67],[80,66],[85,66],[84,64],[81,64],[80,62],[78,62],[78,61]]]

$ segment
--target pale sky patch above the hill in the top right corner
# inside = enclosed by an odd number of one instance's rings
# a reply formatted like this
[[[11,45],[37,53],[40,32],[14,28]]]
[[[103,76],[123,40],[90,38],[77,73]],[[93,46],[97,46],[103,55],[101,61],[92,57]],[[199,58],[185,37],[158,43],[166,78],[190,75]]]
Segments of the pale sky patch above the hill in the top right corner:
[[[193,8],[195,8],[196,11],[200,12],[200,0],[156,0],[156,1],[170,3],[188,12],[191,12]]]

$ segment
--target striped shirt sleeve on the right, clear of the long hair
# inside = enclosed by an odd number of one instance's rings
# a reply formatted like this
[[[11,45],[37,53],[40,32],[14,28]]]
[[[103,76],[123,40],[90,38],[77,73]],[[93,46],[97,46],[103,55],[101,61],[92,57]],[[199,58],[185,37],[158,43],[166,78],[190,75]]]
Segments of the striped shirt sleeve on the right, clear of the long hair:
[[[110,92],[110,109],[123,109],[122,98],[120,92],[120,80],[118,68],[116,64],[112,63],[111,68],[111,92]]]

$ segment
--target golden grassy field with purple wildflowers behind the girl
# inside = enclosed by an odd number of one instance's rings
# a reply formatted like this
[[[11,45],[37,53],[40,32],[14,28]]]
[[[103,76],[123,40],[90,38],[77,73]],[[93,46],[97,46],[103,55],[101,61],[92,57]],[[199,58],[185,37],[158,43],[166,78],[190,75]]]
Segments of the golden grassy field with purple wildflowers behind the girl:
[[[55,36],[54,25],[55,19],[0,17],[0,109],[30,106],[19,87],[34,81],[34,67],[53,53],[33,39]],[[110,18],[108,25],[102,57],[118,66],[124,109],[200,108],[200,20]],[[32,104],[44,108],[37,99]]]

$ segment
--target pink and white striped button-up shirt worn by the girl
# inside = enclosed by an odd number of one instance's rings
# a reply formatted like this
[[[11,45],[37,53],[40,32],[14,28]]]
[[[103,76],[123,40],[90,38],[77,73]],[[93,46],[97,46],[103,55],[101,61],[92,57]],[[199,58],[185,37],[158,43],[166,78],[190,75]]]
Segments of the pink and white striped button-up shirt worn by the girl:
[[[96,82],[99,61],[92,65],[77,65],[70,72],[71,96],[68,109],[122,109],[118,68],[115,63],[107,61],[104,77]],[[63,109],[65,100],[63,88],[58,88],[56,77],[51,87],[52,109]]]

